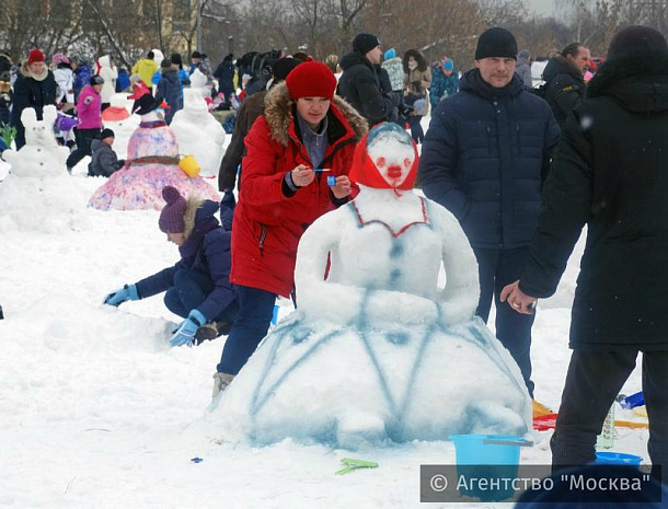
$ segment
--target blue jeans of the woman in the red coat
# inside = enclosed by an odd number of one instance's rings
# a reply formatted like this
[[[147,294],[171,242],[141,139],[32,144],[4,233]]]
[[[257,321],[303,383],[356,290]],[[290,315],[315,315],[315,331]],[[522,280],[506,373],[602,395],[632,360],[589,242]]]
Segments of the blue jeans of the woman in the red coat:
[[[232,325],[216,367],[220,373],[237,374],[267,335],[276,296],[266,290],[251,287],[237,287],[239,315]]]

